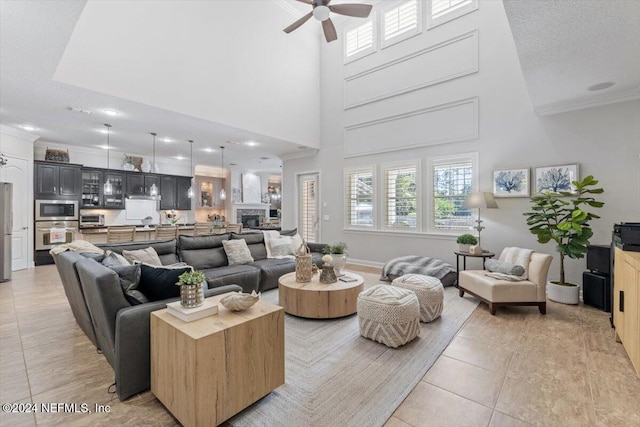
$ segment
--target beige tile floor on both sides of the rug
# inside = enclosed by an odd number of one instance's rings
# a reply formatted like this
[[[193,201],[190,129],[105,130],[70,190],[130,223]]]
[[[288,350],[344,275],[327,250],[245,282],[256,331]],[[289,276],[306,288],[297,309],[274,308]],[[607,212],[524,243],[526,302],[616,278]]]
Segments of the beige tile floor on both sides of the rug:
[[[1,412],[1,426],[179,425],[150,392],[120,402],[107,392],[112,382],[54,266],[0,284],[0,403],[86,403],[93,412]],[[96,413],[96,404],[110,412]],[[534,307],[491,316],[480,304],[386,423],[524,425],[640,426],[640,379],[607,313],[550,302],[546,316]]]

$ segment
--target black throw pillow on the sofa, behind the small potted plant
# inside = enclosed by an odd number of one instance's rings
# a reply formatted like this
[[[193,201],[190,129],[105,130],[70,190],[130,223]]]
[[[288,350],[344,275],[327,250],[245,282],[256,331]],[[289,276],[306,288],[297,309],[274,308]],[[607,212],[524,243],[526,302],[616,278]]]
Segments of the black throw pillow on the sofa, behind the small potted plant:
[[[149,264],[140,265],[140,282],[133,290],[142,292],[149,301],[160,301],[180,296],[176,283],[182,273],[193,271],[192,267],[167,268]]]

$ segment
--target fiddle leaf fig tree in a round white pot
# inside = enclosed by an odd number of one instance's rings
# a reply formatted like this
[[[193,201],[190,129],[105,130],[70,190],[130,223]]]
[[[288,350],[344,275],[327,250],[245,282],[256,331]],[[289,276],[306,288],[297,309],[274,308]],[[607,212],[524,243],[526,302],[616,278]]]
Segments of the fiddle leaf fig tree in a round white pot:
[[[572,181],[575,192],[544,192],[531,197],[531,211],[527,217],[529,231],[538,243],[553,241],[560,254],[560,280],[550,281],[547,286],[549,299],[565,304],[578,304],[580,286],[565,280],[565,257],[584,258],[589,239],[593,236],[590,221],[600,218],[590,208],[601,208],[603,202],[592,194],[602,194],[602,188],[593,188],[598,181],[592,175],[582,181]]]

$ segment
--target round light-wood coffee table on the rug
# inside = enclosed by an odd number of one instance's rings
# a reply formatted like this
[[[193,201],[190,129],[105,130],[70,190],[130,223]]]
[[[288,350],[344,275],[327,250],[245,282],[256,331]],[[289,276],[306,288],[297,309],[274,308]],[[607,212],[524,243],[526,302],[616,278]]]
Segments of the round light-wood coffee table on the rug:
[[[296,282],[296,273],[288,273],[278,279],[278,292],[284,311],[310,319],[333,319],[356,312],[358,294],[364,290],[364,279],[355,273],[346,273],[356,279],[325,285],[320,274],[314,274],[311,282]]]

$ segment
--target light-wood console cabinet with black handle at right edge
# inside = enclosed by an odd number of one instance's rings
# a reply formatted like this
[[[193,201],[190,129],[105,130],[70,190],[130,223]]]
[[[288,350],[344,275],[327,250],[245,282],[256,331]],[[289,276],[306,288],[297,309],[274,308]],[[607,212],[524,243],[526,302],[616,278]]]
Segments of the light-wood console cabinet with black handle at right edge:
[[[615,248],[613,323],[640,377],[640,252]]]

